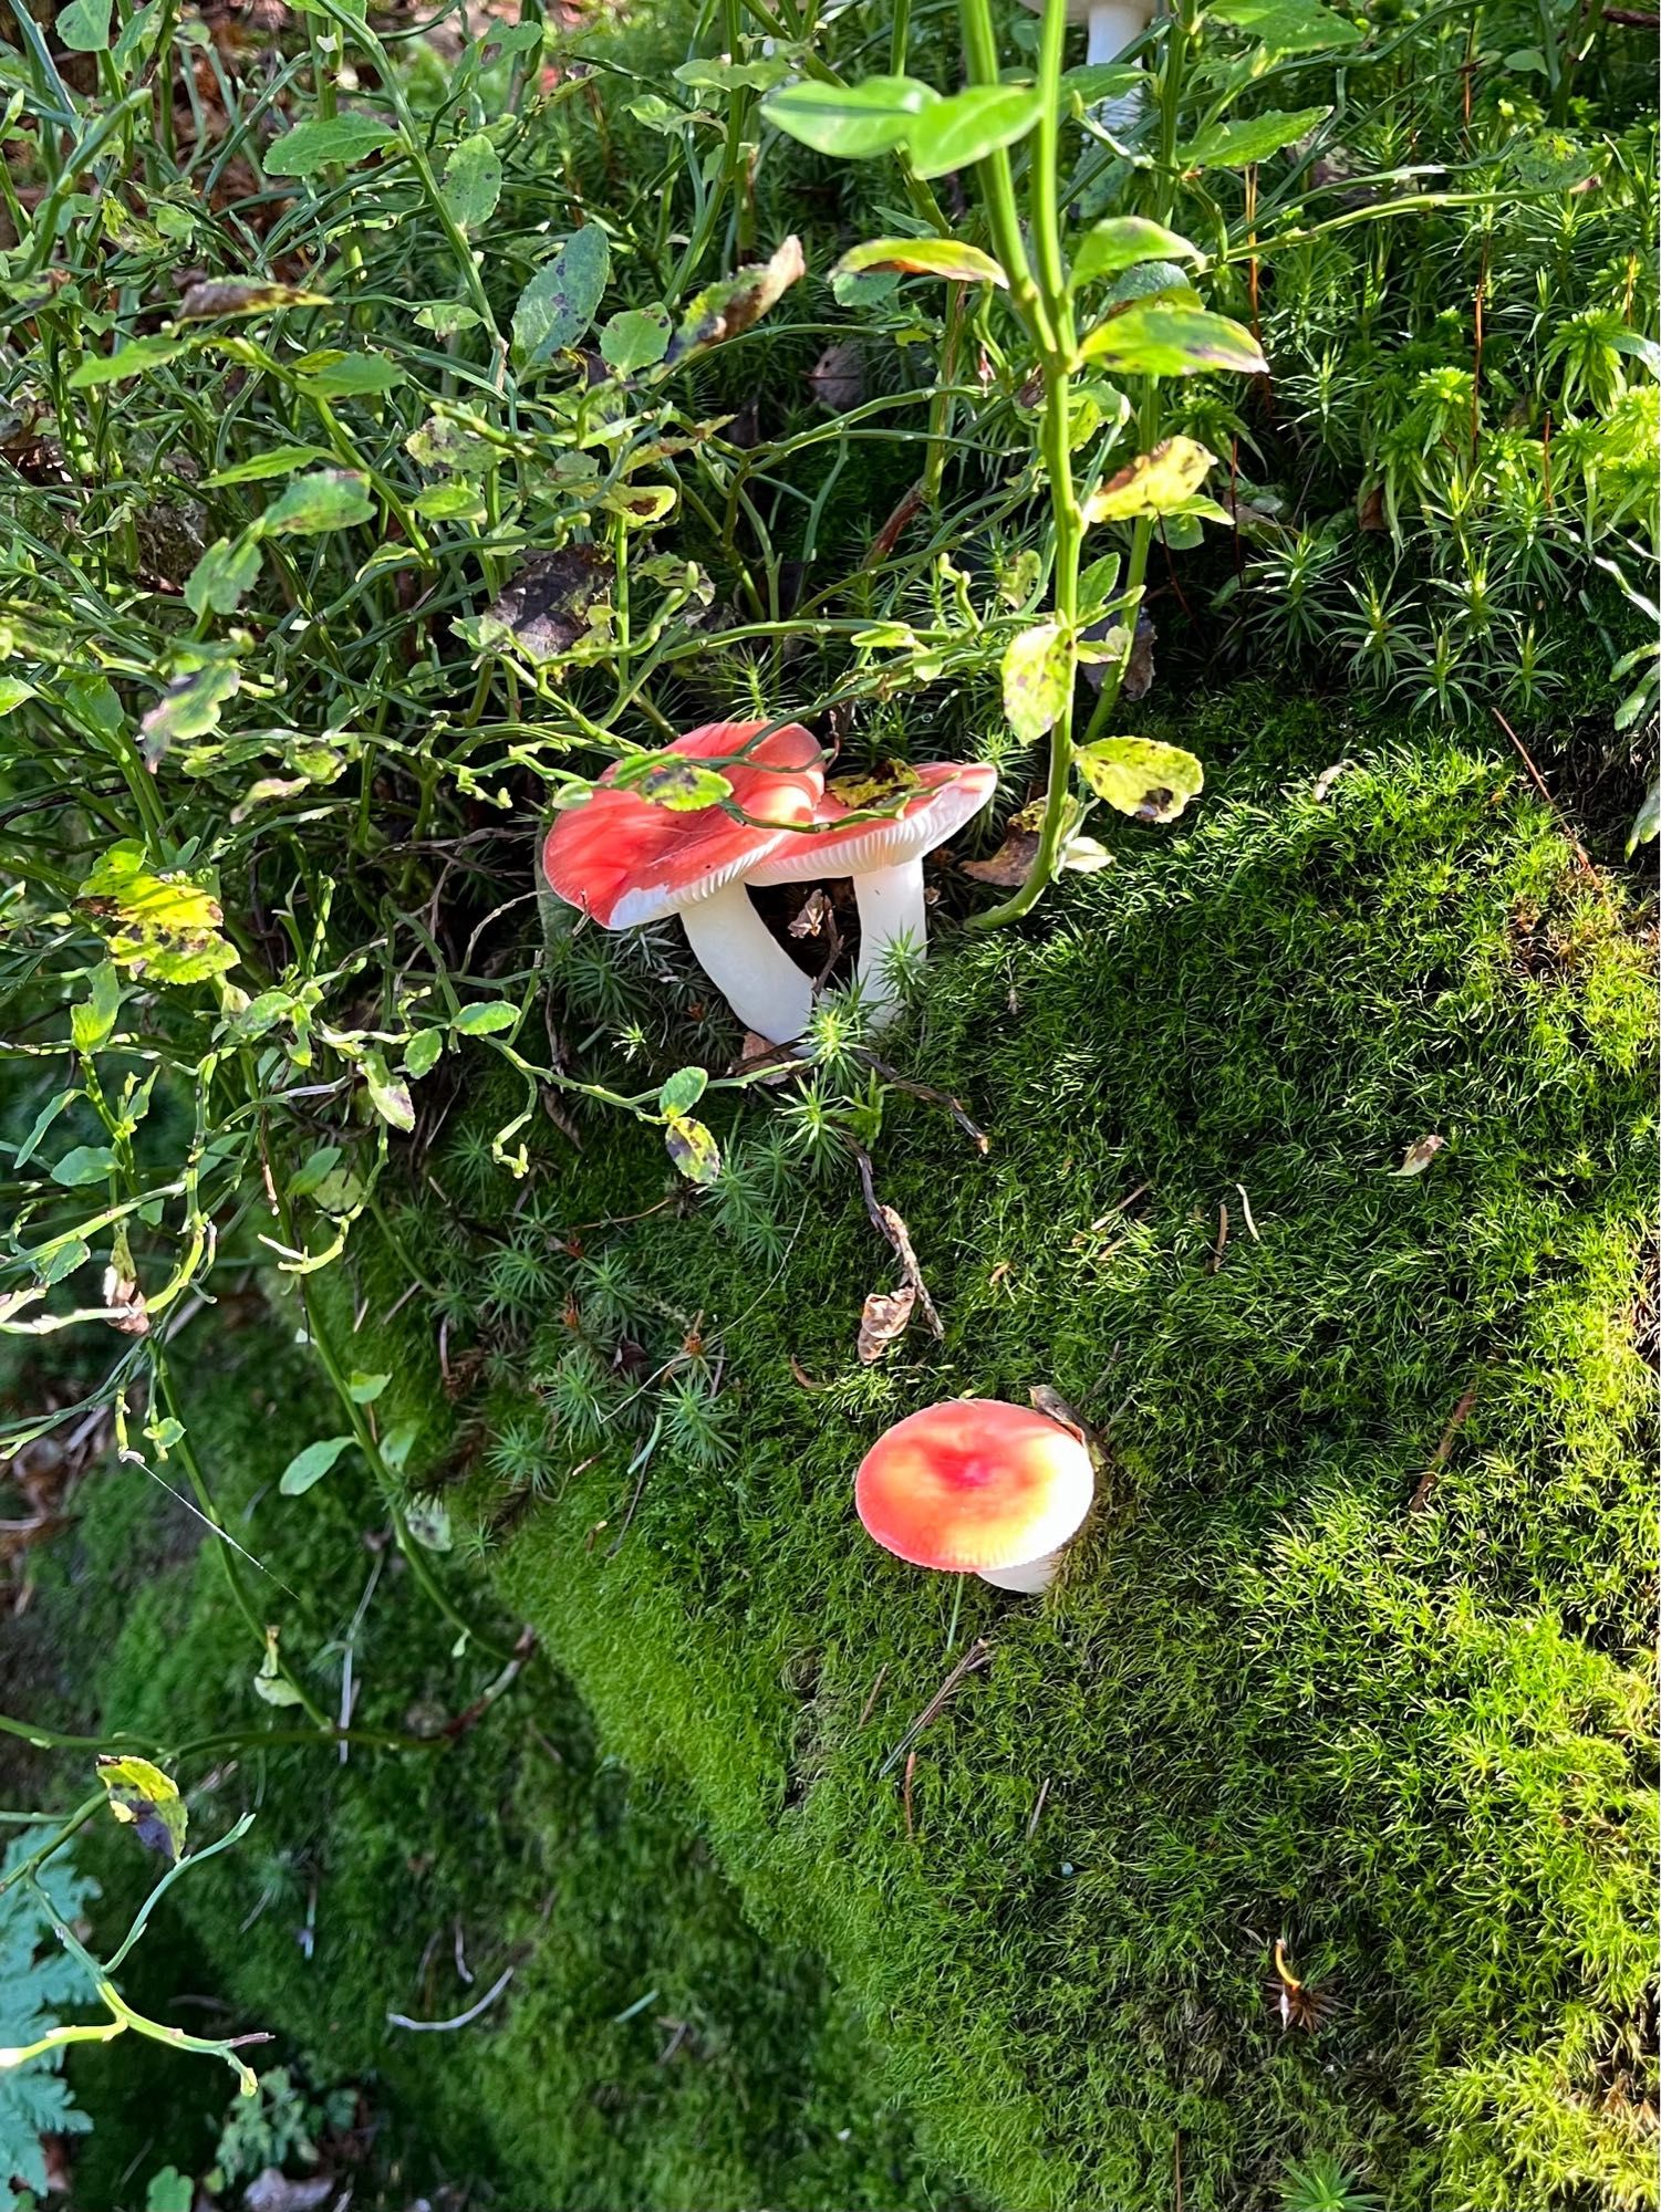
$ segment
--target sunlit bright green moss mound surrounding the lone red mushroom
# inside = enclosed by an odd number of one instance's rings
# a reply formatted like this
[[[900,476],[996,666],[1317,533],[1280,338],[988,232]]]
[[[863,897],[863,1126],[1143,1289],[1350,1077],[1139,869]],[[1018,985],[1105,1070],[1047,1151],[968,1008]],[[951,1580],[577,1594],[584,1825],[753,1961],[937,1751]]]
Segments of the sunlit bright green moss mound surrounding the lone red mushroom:
[[[1180,2168],[1238,2212],[1331,2150],[1393,2212],[1650,2205],[1643,962],[1510,763],[1254,692],[1183,741],[1220,768],[1191,821],[957,942],[895,1046],[990,1135],[890,1095],[873,1144],[946,1343],[857,1365],[888,1254],[766,1102],[724,1201],[569,1265],[547,1223],[656,1206],[662,1155],[547,1133],[538,1327],[478,1263],[525,1245],[485,1102],[439,1161],[474,1230],[405,1221],[476,1332],[478,1444],[514,1438],[458,1464],[529,1471],[489,1504],[501,1590],[992,2201],[1154,2212]],[[616,1345],[629,1301],[720,1349],[724,1458],[567,1436],[549,1338]],[[416,1407],[430,1316],[394,1340]],[[879,1767],[952,1584],[868,1546],[850,1475],[917,1405],[1039,1383],[1103,1431],[1101,1509],[1048,1599],[966,1586],[990,1666],[906,1805]]]

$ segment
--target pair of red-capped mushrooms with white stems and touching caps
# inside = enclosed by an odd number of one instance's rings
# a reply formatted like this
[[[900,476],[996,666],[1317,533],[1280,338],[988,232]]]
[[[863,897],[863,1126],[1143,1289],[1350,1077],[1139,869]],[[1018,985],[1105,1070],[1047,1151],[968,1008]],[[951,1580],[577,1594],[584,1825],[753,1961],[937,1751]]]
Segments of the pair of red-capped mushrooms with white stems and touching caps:
[[[908,940],[921,953],[928,936],[924,854],[986,805],[997,772],[917,768],[910,796],[890,818],[839,830],[859,810],[826,792],[819,748],[799,721],[713,721],[664,750],[720,763],[731,796],[671,810],[620,790],[618,770],[607,770],[547,834],[549,889],[602,929],[638,929],[678,914],[698,964],[740,1022],[768,1044],[788,1044],[808,1026],[813,982],[773,940],[746,885],[853,876],[859,989],[881,1015],[895,998],[890,949]]]

